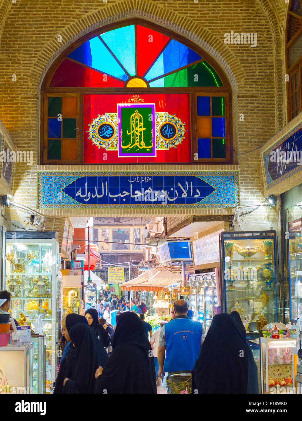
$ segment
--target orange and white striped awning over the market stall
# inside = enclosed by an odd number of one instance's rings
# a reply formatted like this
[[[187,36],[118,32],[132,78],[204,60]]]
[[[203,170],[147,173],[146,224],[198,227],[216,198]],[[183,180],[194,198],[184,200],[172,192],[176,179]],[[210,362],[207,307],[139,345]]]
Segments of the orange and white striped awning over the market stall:
[[[164,291],[167,292],[169,287],[179,288],[182,281],[182,274],[170,272],[169,270],[152,269],[148,272],[140,274],[131,281],[120,285],[122,291]]]

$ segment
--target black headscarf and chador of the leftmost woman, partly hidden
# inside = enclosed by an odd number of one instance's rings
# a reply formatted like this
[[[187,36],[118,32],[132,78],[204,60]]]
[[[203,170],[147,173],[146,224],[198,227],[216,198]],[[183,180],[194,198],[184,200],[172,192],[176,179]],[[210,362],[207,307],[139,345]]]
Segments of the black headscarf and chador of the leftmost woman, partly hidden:
[[[75,313],[67,314],[65,319],[65,325],[68,333],[71,330],[72,326],[76,325],[77,323],[83,323],[84,325],[88,325],[86,317],[80,316],[79,314]],[[74,346],[72,346],[72,344],[70,345],[71,346],[69,346],[66,357],[64,357],[64,359],[61,360],[59,373],[56,378],[56,387],[53,391],[53,393],[56,394],[63,393],[64,378],[70,378],[72,374],[73,365],[75,363],[76,349]]]

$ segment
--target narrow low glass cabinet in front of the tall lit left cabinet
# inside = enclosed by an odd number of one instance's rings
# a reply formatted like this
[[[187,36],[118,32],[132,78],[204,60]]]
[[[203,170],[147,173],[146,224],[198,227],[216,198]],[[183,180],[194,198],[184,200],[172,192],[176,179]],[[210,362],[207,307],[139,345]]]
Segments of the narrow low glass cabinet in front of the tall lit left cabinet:
[[[45,393],[45,337],[31,335],[33,344],[33,393]]]

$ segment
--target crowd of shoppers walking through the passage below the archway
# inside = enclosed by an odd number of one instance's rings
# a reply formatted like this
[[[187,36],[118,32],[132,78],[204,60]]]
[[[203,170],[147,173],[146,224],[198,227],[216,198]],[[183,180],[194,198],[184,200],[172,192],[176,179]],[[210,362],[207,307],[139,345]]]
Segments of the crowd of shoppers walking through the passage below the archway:
[[[100,306],[87,309],[85,317],[62,319],[67,346],[54,393],[154,394],[163,379],[172,394],[258,393],[257,366],[238,313],[214,316],[206,335],[187,302],[178,300],[171,320],[162,320],[152,334],[144,302],[136,304],[127,311],[117,301],[122,310],[114,329],[105,316],[98,319]]]

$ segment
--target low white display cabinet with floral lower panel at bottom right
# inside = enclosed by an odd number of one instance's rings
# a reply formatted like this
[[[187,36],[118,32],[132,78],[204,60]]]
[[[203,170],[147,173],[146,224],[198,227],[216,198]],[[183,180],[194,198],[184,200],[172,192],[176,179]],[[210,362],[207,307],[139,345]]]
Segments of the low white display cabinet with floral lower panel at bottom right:
[[[295,338],[260,338],[261,393],[294,393],[289,388],[296,386],[295,346]]]

